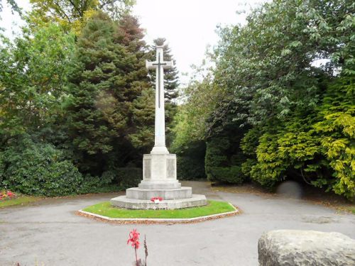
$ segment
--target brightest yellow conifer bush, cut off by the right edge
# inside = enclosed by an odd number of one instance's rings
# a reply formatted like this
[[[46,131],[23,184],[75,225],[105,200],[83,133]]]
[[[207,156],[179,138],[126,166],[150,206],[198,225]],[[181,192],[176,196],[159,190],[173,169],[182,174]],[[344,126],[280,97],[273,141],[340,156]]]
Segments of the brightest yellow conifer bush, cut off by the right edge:
[[[316,185],[348,199],[355,199],[354,81],[354,75],[344,75],[329,85],[318,113],[320,121],[313,125],[319,135],[322,155],[332,169],[332,177],[320,176]]]

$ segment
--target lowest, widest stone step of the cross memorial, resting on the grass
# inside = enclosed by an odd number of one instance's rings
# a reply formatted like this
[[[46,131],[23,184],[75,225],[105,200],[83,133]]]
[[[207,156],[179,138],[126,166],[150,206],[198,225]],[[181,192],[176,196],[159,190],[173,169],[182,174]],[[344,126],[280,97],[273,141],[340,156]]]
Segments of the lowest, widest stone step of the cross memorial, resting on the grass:
[[[117,196],[111,199],[111,204],[125,209],[182,209],[204,206],[207,204],[207,199],[204,195],[192,194],[192,197],[188,199],[171,199],[154,203],[151,200],[128,199],[126,196]]]

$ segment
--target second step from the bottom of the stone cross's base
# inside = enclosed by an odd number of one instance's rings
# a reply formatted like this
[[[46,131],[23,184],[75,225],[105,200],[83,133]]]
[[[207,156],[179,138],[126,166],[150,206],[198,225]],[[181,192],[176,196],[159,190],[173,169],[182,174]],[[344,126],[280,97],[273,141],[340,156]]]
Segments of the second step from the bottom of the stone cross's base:
[[[192,197],[191,187],[180,187],[180,189],[141,189],[131,187],[126,189],[128,199],[146,199],[151,200],[153,196],[160,196],[163,199],[187,199]]]

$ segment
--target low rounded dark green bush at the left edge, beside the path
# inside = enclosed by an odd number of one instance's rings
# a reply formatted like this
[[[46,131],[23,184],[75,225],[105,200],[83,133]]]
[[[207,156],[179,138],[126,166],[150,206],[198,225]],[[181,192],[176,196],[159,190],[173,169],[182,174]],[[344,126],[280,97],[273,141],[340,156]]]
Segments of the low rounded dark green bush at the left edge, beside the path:
[[[61,150],[22,138],[0,152],[0,181],[23,194],[62,196],[79,193],[83,178]]]

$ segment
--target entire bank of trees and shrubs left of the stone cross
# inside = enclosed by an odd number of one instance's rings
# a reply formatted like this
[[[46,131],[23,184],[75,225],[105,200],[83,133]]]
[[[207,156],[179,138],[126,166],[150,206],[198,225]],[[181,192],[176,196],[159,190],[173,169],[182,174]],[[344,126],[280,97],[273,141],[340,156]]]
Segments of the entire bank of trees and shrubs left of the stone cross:
[[[155,108],[133,3],[32,0],[22,34],[0,36],[0,189],[59,196],[141,180]]]

